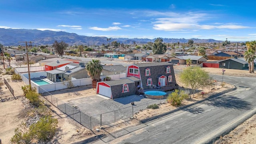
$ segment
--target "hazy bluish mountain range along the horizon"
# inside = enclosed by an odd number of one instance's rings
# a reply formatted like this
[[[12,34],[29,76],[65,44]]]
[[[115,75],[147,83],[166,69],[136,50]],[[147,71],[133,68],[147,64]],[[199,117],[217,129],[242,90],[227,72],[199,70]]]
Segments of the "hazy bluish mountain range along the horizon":
[[[69,45],[102,45],[108,44],[112,41],[120,42],[120,44],[146,44],[148,42],[154,42],[154,39],[148,38],[110,38],[110,41],[107,41],[107,37],[104,36],[80,36],[75,33],[68,32],[55,32],[51,30],[28,30],[28,29],[5,29],[0,28],[0,44],[4,46],[18,46],[24,45],[24,42],[32,42],[32,45],[46,45],[53,44],[55,40],[58,42],[63,41]],[[213,40],[213,39],[184,39],[184,38],[162,38],[163,42],[166,43],[186,43],[188,40],[193,40],[194,43],[218,43],[222,41]]]

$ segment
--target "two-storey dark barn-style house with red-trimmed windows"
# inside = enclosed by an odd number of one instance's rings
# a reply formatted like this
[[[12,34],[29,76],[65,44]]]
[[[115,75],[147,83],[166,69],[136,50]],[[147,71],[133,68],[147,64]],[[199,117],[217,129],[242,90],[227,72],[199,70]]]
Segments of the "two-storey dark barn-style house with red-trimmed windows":
[[[167,86],[176,84],[173,65],[169,62],[147,62],[127,66],[126,77],[134,76],[141,80],[140,87],[148,89],[153,84]]]

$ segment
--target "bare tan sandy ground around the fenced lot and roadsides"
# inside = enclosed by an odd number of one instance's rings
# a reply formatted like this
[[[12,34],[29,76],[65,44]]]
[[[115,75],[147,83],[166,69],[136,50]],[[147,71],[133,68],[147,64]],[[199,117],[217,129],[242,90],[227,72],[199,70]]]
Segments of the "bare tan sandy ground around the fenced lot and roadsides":
[[[178,66],[177,68],[182,68],[182,66]],[[222,69],[219,68],[204,68],[206,71],[210,73],[215,74],[222,74]],[[226,75],[239,75],[239,76],[256,76],[255,74],[249,74],[248,71],[245,70],[227,70],[225,69]],[[1,76],[0,82],[3,81],[3,77],[10,77],[10,76]],[[182,84],[179,82],[178,76],[177,83],[182,86]],[[24,85],[23,82],[19,81],[9,81],[10,85],[14,87],[14,93],[15,96],[22,95],[21,86]],[[221,88],[220,82],[216,82],[217,88]],[[230,86],[229,84],[225,84],[224,88],[221,88],[219,90],[211,90],[212,88],[216,88],[215,86],[208,88],[203,88],[203,91],[205,92],[204,98],[210,96],[211,94],[214,94],[216,92],[220,92],[222,90],[226,90],[228,88],[233,88],[233,86]],[[0,88],[0,98],[12,98],[12,94],[8,90],[8,88],[5,88],[5,84],[1,86]],[[208,92],[210,92],[208,94]],[[58,94],[58,98],[62,100],[71,100],[73,98],[81,98],[86,96],[92,96],[95,95],[95,90],[89,87],[78,87],[74,89],[67,89],[66,92],[56,92]],[[66,93],[66,94],[65,94]],[[79,93],[79,94],[78,94]],[[196,102],[198,100],[204,99],[202,97],[202,94],[199,92],[198,94],[195,94],[194,98],[185,100],[182,102],[182,105],[191,104],[193,102]],[[63,114],[58,108],[55,106],[52,106],[50,103],[48,103],[46,100],[44,100],[45,103],[50,107],[52,110],[52,115],[54,118],[58,119],[58,126],[60,128],[60,131],[58,132],[55,142],[60,144],[69,144],[76,141],[85,140],[86,138],[95,137],[98,134],[104,134],[104,132],[96,132],[88,130],[87,128],[84,128],[82,125],[78,124],[76,121],[72,120],[70,117],[68,117],[66,114]],[[138,125],[140,122],[138,120],[143,120],[145,118],[148,118],[150,116],[154,116],[157,114],[161,114],[166,111],[170,111],[175,109],[176,107],[171,106],[170,104],[162,104],[160,105],[160,109],[158,110],[149,110],[148,112],[144,110],[143,112],[140,112],[138,115],[136,115],[136,119],[124,122],[119,122],[119,124],[116,124],[114,126],[111,126],[109,128],[106,128],[108,132],[114,132],[116,130],[119,130],[120,128],[125,128],[127,126],[132,125]],[[26,121],[25,117],[20,116],[24,110],[24,104],[21,102],[21,98],[18,98],[17,100],[10,100],[6,102],[0,102],[0,124],[3,124],[3,127],[1,126],[0,130],[0,138],[2,139],[2,144],[8,144],[10,138],[14,135],[14,129],[19,126],[21,122]],[[23,112],[24,113],[24,112]],[[241,126],[238,126],[238,130],[235,133],[230,133],[230,136],[223,136],[221,140],[225,140],[222,143],[234,143],[238,142],[240,143],[253,143],[256,134],[256,116],[251,118],[252,120],[245,122],[244,124],[241,124]],[[247,125],[246,125],[247,124]],[[224,138],[228,138],[227,141]],[[250,138],[251,137],[251,138]],[[240,141],[238,141],[240,140]],[[245,141],[244,141],[245,140]],[[220,143],[220,142],[219,142]]]

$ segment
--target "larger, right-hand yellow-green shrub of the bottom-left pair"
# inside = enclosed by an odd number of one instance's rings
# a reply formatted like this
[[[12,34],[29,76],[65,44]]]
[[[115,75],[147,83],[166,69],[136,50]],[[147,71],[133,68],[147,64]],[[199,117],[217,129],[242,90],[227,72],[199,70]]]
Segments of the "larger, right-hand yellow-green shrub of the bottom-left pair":
[[[38,122],[30,126],[30,132],[37,140],[46,142],[51,140],[57,132],[58,120],[51,116],[44,116]]]

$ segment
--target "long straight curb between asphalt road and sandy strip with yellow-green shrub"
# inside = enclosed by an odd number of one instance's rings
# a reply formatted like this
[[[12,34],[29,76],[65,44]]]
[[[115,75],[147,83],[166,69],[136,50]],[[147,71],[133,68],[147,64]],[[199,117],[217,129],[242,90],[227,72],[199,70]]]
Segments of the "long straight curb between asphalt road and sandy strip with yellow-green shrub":
[[[178,107],[178,108],[176,108],[175,110],[171,110],[170,112],[165,112],[165,113],[163,113],[163,114],[159,114],[159,115],[153,116],[153,117],[151,117],[151,118],[147,118],[147,119],[144,119],[144,120],[140,120],[140,122],[141,122],[141,123],[146,123],[146,122],[149,122],[149,121],[152,121],[152,120],[156,120],[156,119],[158,119],[158,118],[162,118],[162,117],[164,117],[164,116],[167,116],[167,115],[172,114],[172,113],[174,113],[174,112],[177,112],[177,111],[179,111],[179,110],[183,110],[183,109],[188,108],[188,107],[190,107],[190,106],[194,106],[194,105],[196,105],[196,104],[199,104],[199,103],[204,102],[204,101],[206,101],[206,100],[210,100],[210,99],[212,99],[212,98],[215,98],[215,97],[217,97],[217,96],[220,96],[220,95],[222,95],[222,94],[231,92],[231,91],[236,90],[236,89],[237,89],[237,88],[236,88],[236,86],[235,86],[235,88],[230,88],[230,89],[228,89],[228,90],[224,90],[224,91],[219,92],[219,93],[217,93],[217,94],[213,94],[212,96],[209,96],[208,98],[205,98],[204,100],[200,100],[200,101],[198,101],[198,102],[194,102],[194,103],[188,104],[188,105],[186,105],[186,106]]]

